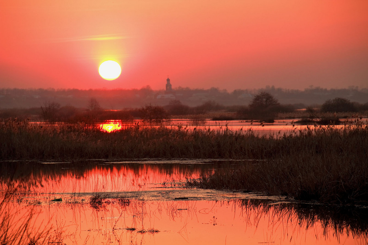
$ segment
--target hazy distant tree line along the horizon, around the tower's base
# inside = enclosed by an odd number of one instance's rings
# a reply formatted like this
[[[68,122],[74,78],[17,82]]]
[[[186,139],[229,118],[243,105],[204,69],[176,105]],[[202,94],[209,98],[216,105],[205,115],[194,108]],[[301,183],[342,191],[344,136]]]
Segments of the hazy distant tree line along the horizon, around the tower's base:
[[[164,84],[163,84],[164,86]],[[164,88],[164,87],[163,87]],[[177,87],[173,89],[175,100],[194,107],[205,102],[215,101],[223,106],[249,105],[252,99],[261,92],[269,93],[278,99],[280,104],[322,104],[327,99],[346,98],[359,103],[367,103],[368,88],[350,86],[345,89],[325,89],[320,87],[304,90],[275,88],[266,86],[261,89],[191,89]],[[39,107],[45,101],[59,103],[60,106],[72,105],[86,107],[86,100],[96,98],[105,109],[137,108],[146,104],[166,106],[170,99],[159,99],[164,90],[153,90],[149,86],[140,89],[10,89],[0,88],[0,108]],[[301,105],[302,106],[302,105]]]

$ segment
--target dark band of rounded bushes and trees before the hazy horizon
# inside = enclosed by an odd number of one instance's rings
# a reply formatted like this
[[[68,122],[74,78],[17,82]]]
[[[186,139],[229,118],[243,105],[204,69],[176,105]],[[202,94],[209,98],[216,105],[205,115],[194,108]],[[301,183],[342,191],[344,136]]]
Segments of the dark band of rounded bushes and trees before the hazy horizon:
[[[306,108],[300,104],[281,104],[268,92],[260,92],[255,95],[248,106],[224,106],[214,100],[206,101],[199,106],[188,106],[180,100],[171,100],[166,106],[149,103],[140,108],[125,110],[105,110],[100,106],[99,101],[92,97],[88,100],[84,109],[70,105],[61,106],[57,102],[46,101],[39,108],[0,110],[0,117],[32,117],[33,120],[43,120],[50,123],[58,121],[96,123],[103,120],[133,119],[142,119],[154,123],[178,116],[185,117],[220,112],[232,113],[233,116],[214,117],[214,120],[255,119],[272,123],[279,113],[292,113],[303,107]],[[312,110],[310,107],[309,111],[310,118],[316,117],[315,109]],[[326,100],[319,111],[322,113],[360,112],[368,114],[368,103],[350,102],[346,98],[336,97],[335,99]],[[310,121],[310,119],[305,121],[308,120]]]

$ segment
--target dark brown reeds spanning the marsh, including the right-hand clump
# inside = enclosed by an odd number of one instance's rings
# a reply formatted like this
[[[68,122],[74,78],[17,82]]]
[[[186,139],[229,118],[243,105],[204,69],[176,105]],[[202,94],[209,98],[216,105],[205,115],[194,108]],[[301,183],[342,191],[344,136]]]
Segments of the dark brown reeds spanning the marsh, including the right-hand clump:
[[[253,131],[133,125],[114,133],[83,124],[0,123],[3,160],[253,159],[188,184],[297,199],[368,201],[368,125],[317,126],[260,137]]]

